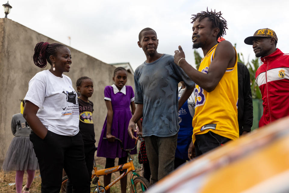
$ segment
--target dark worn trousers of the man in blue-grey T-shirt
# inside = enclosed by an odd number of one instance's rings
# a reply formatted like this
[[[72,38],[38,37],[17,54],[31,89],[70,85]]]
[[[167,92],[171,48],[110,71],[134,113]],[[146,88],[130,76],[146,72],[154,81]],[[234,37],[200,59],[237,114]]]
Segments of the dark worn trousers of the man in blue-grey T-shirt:
[[[171,137],[144,137],[151,168],[151,184],[168,175],[174,169],[178,134]]]

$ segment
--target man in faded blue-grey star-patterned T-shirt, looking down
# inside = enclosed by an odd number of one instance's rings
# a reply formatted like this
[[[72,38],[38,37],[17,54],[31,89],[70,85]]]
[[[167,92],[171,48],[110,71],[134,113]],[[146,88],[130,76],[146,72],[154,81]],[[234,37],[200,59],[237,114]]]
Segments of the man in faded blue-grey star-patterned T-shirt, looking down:
[[[142,131],[151,168],[151,184],[173,170],[177,145],[178,109],[194,89],[185,72],[174,64],[174,57],[157,53],[156,32],[145,28],[139,33],[138,46],[147,60],[135,70],[135,103],[137,107],[129,122],[129,135],[136,132],[135,123],[143,116]],[[187,88],[178,103],[178,83]]]

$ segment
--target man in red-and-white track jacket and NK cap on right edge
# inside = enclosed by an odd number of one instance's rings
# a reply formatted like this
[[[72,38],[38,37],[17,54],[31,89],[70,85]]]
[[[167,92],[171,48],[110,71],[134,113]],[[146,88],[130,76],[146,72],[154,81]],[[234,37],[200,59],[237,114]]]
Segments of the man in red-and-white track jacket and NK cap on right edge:
[[[268,28],[257,30],[244,42],[253,45],[256,57],[263,64],[256,71],[263,99],[263,116],[259,127],[289,115],[289,54],[276,49],[278,38]]]

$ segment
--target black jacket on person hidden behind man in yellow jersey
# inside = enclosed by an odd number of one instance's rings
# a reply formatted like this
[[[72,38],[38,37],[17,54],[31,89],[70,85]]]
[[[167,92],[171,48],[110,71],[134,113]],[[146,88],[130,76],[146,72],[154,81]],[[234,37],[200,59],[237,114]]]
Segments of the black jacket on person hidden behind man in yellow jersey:
[[[251,131],[253,125],[253,102],[250,74],[247,67],[238,62],[238,123],[239,134]]]

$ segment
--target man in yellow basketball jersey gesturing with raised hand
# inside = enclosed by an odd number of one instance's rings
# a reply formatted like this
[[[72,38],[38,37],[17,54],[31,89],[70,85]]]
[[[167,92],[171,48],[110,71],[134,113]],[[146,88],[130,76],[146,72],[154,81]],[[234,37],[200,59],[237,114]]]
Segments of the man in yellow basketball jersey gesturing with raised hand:
[[[199,156],[239,137],[237,52],[230,42],[217,42],[226,34],[227,22],[221,12],[208,9],[192,16],[193,48],[204,52],[199,70],[186,62],[181,46],[174,56],[174,62],[196,83],[190,159],[194,153]]]

